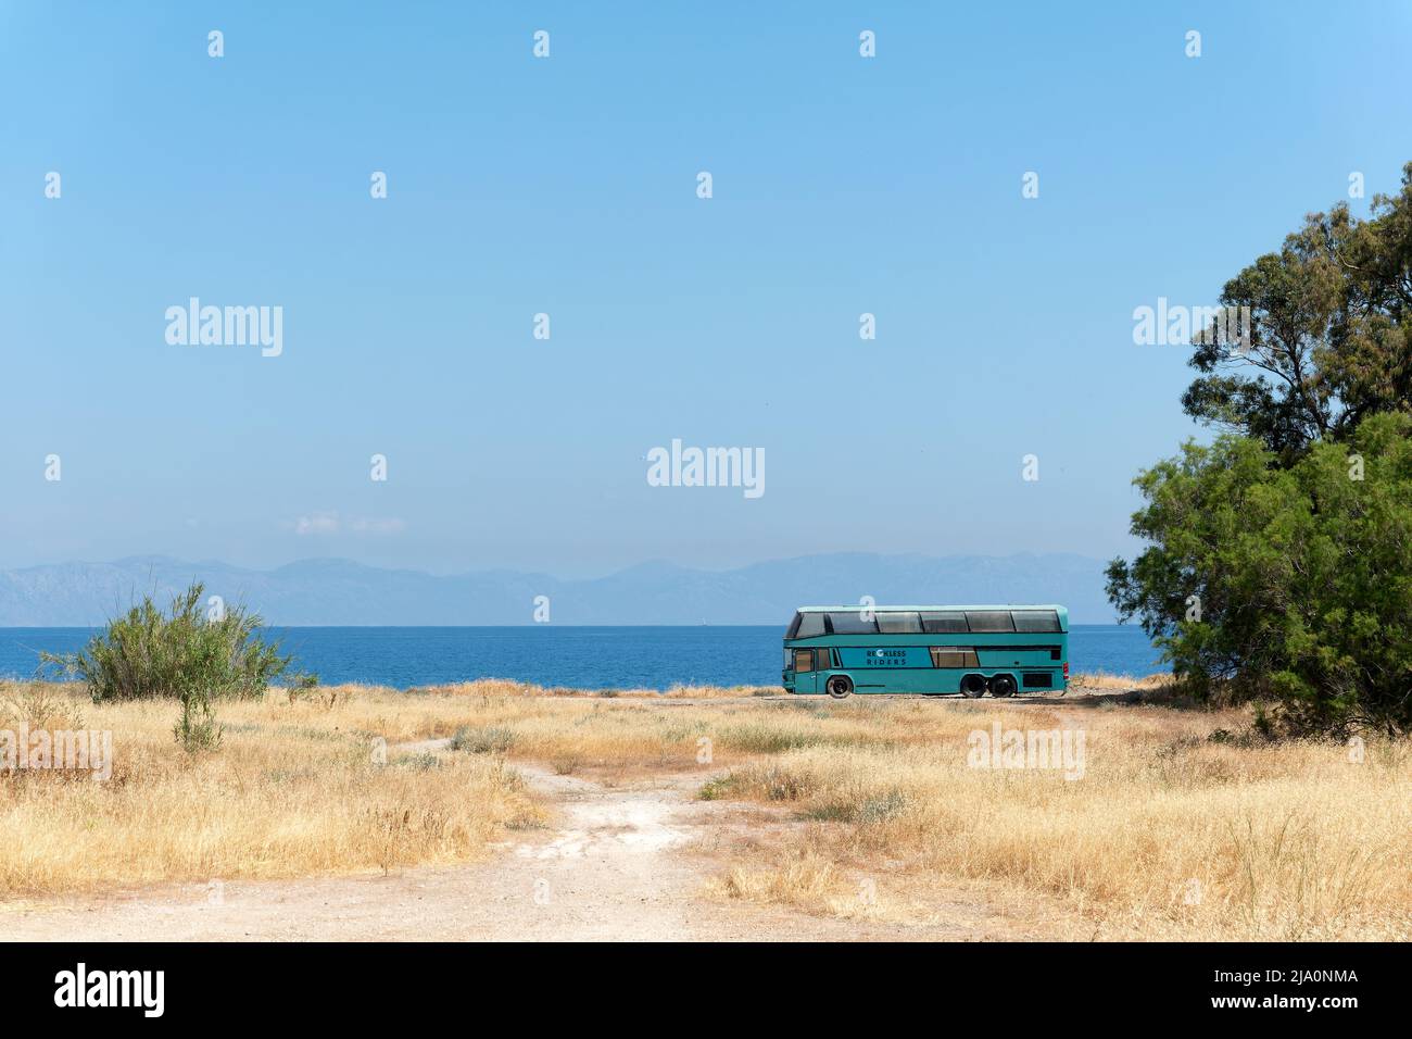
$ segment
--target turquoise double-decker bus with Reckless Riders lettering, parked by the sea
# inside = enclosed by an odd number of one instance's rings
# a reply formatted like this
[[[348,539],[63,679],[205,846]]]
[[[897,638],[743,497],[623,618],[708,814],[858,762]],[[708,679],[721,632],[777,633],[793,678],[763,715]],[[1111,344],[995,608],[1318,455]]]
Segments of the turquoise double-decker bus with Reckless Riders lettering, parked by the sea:
[[[801,606],[785,632],[786,693],[974,698],[1067,684],[1063,606]]]

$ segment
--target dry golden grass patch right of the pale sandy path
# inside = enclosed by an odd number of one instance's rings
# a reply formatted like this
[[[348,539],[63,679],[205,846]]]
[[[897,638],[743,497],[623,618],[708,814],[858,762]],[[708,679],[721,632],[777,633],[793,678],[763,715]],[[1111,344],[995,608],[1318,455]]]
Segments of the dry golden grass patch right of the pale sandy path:
[[[810,820],[779,862],[737,868],[737,896],[819,910],[858,878],[925,915],[928,886],[981,884],[1060,908],[1060,937],[1412,936],[1412,752],[1211,742],[1241,712],[1149,707],[867,703],[891,746],[808,746],[734,769],[713,796]],[[967,765],[967,735],[1083,729],[1082,779]],[[829,875],[822,869],[827,867]]]

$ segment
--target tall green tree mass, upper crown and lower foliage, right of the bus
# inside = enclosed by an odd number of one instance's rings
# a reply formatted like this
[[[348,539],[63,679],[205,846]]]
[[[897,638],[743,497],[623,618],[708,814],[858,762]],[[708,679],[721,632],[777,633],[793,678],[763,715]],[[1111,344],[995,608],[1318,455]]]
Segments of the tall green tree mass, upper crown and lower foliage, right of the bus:
[[[1370,219],[1306,218],[1220,301],[1248,339],[1195,336],[1182,403],[1221,435],[1138,476],[1148,547],[1108,565],[1108,598],[1197,694],[1272,697],[1293,732],[1406,732],[1412,163]]]

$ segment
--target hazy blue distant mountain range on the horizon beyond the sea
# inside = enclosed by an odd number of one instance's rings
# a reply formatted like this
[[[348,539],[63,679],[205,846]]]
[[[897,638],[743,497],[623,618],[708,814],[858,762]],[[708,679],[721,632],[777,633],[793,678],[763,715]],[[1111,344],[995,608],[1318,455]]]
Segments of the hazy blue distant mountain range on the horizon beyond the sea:
[[[486,570],[436,577],[349,560],[277,570],[143,556],[0,571],[0,626],[99,625],[136,598],[162,605],[201,580],[208,595],[243,602],[273,625],[522,625],[549,597],[561,625],[784,625],[794,608],[857,602],[1062,602],[1075,623],[1110,623],[1103,567],[1082,556],[871,556],[839,553],[709,571],[644,563],[565,581]]]

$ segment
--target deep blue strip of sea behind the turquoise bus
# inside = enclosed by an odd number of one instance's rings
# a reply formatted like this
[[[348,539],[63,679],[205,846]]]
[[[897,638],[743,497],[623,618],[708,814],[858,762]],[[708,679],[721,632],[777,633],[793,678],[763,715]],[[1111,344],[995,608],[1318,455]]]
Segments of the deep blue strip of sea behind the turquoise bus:
[[[35,674],[40,650],[72,653],[93,628],[0,628],[0,677]],[[394,688],[513,679],[573,688],[778,686],[778,625],[693,628],[268,628],[294,670],[323,684]],[[1144,676],[1166,670],[1135,625],[1072,625],[1069,670]]]

